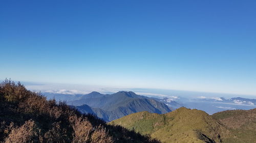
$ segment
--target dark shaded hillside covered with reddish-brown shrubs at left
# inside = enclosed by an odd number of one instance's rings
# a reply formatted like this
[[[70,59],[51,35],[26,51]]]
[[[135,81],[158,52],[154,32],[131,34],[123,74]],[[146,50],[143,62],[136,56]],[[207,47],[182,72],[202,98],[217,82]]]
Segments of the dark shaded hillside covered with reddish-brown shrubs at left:
[[[0,84],[0,142],[152,142],[159,141],[106,125],[92,116],[82,115],[63,102],[46,100],[24,85],[5,80]]]

